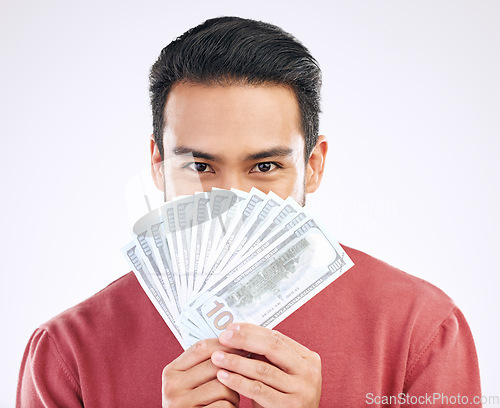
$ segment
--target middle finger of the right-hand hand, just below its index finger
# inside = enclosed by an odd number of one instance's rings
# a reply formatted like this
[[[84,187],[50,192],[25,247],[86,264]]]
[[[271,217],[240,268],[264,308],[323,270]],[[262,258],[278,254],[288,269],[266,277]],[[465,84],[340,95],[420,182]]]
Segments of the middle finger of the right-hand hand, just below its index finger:
[[[294,377],[265,361],[216,351],[212,354],[212,362],[217,367],[261,381],[281,392],[292,392],[297,386]]]

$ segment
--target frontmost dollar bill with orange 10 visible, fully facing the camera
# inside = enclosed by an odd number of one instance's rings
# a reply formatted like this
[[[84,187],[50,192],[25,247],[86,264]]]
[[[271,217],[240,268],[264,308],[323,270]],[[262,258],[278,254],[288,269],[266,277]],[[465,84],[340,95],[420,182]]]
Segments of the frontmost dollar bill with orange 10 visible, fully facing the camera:
[[[312,219],[189,308],[214,335],[233,321],[273,328],[353,265]]]

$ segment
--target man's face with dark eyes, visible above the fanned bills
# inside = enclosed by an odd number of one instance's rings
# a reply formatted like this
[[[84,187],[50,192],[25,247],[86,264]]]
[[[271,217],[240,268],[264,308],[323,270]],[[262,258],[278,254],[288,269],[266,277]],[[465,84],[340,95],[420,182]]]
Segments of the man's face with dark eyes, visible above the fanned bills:
[[[323,171],[326,141],[318,143],[321,168],[311,160],[306,165],[299,106],[287,87],[179,83],[164,117],[163,169],[153,140],[151,153],[153,176],[167,199],[212,187],[256,187],[304,203],[305,193],[319,185],[321,174],[312,176]]]

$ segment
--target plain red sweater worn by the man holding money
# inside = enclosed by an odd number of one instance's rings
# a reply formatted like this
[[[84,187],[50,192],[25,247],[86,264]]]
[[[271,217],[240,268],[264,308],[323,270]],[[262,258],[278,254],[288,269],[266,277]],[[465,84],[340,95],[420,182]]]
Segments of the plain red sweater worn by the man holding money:
[[[321,406],[454,406],[458,395],[471,404],[480,396],[476,351],[452,300],[345,249],[355,266],[276,327],[320,354]],[[182,351],[129,273],[34,332],[17,406],[161,407],[162,369]],[[433,404],[423,399],[433,393]]]

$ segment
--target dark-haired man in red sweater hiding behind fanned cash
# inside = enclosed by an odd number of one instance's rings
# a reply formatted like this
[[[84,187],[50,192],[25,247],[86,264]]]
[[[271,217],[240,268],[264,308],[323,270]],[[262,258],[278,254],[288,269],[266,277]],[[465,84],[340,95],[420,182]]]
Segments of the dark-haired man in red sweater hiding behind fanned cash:
[[[201,183],[304,203],[318,188],[321,75],[289,34],[211,19],[168,45],[150,80],[152,174],[167,198]],[[345,249],[355,266],[275,331],[234,323],[185,352],[130,273],[35,331],[18,406],[422,406],[458,394],[472,404],[477,357],[453,302]]]

